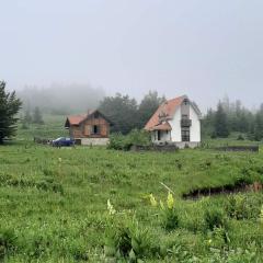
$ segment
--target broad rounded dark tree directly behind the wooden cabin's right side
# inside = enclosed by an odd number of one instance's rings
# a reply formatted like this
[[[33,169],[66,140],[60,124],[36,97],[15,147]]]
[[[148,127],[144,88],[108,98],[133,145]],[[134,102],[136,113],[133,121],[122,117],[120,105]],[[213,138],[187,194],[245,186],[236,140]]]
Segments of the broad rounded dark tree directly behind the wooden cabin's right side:
[[[138,127],[137,102],[128,95],[106,96],[99,110],[113,123],[112,132],[128,134]]]

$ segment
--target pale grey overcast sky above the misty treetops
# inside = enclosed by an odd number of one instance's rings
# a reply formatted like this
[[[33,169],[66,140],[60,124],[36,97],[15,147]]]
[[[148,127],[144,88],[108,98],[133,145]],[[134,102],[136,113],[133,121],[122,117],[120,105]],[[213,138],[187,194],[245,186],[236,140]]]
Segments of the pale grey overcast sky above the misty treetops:
[[[0,0],[0,79],[263,102],[263,0]]]

